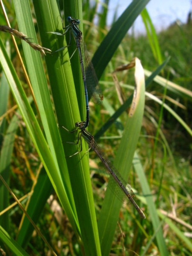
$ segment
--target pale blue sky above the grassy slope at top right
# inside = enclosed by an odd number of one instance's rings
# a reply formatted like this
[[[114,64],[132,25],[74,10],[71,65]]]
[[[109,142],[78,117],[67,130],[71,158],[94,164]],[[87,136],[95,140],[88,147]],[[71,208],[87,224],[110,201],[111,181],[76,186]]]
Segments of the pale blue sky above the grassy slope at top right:
[[[111,0],[109,2],[108,25],[111,24],[116,8],[118,8],[119,17],[130,3],[131,0]],[[146,9],[157,32],[159,32],[162,29],[166,29],[177,19],[186,23],[188,13],[192,11],[192,0],[151,0]],[[139,34],[145,33],[141,17],[138,17],[134,22],[134,31]]]

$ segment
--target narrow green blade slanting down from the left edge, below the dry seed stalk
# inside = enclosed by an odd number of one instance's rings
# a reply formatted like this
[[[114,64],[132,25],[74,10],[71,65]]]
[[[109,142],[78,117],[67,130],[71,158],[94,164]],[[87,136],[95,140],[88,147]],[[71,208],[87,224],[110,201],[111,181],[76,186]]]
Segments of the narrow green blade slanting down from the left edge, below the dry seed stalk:
[[[3,67],[7,81],[9,82],[9,86],[11,87],[12,93],[15,96],[15,100],[17,102],[18,107],[20,108],[20,112],[23,116],[23,119],[26,123],[26,127],[28,128],[29,134],[32,137],[33,143],[38,151],[38,154],[41,157],[44,166],[50,172],[49,178],[52,180],[55,191],[61,190],[61,193],[65,195],[65,190],[63,185],[61,184],[61,178],[58,175],[58,170],[55,167],[52,155],[50,154],[49,148],[38,125],[37,119],[35,118],[35,115],[29,105],[27,97],[23,91],[23,88],[15,73],[15,70],[12,67],[12,63],[9,60],[9,57],[6,53],[6,49],[4,48],[4,45],[1,40],[0,64]],[[60,185],[58,187],[55,186],[55,183],[57,182]]]

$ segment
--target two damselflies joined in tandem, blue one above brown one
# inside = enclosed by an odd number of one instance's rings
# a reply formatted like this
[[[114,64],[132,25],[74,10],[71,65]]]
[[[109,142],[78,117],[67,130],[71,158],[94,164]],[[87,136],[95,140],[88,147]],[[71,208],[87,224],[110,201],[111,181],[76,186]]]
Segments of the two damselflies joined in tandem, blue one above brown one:
[[[137,212],[139,213],[140,217],[145,218],[143,211],[140,209],[140,207],[136,204],[136,202],[133,199],[134,192],[132,191],[131,187],[123,179],[123,177],[120,175],[117,169],[112,165],[112,163],[107,159],[107,157],[105,157],[101,148],[99,148],[99,146],[96,144],[93,135],[90,134],[86,129],[87,126],[89,125],[89,104],[88,104],[87,87],[91,90],[91,95],[94,102],[100,104],[102,102],[103,96],[102,96],[102,91],[100,90],[100,87],[99,87],[99,82],[96,77],[95,70],[93,69],[93,64],[91,63],[90,58],[88,56],[87,48],[85,47],[85,44],[83,44],[83,41],[82,41],[82,32],[78,27],[80,20],[73,19],[72,17],[69,16],[67,17],[67,21],[69,25],[63,28],[63,29],[66,29],[66,31],[63,34],[58,32],[50,32],[50,33],[56,34],[56,35],[65,35],[67,31],[70,30],[70,35],[72,33],[76,41],[76,47],[77,47],[76,49],[78,49],[78,52],[79,52],[82,78],[84,82],[84,94],[85,94],[85,102],[86,102],[86,120],[83,122],[76,122],[75,124],[76,130],[74,131],[80,130],[77,143],[79,143],[79,140],[81,142],[82,137],[84,138],[84,140],[87,142],[89,147],[92,148],[93,151],[95,151],[95,153],[101,160],[107,173],[110,174],[110,179],[108,180],[108,186],[111,189],[111,191],[115,193],[117,198],[119,198],[120,201],[122,201],[123,203],[128,204],[129,202],[131,202],[134,205]],[[55,52],[58,52],[70,46],[70,43],[71,43],[71,36],[70,36],[69,44],[67,46],[64,46],[56,50]],[[70,144],[74,144],[74,143],[70,143]],[[81,150],[82,150],[82,147],[81,147]],[[76,152],[72,156],[78,153],[79,152]],[[102,175],[104,176],[104,178],[106,177],[103,172],[102,172]]]

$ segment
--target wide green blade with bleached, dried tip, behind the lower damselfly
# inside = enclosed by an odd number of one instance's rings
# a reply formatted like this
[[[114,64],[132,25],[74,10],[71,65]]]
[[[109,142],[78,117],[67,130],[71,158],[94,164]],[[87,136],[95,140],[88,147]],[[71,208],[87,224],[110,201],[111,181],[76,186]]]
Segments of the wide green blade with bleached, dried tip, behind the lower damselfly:
[[[114,165],[125,180],[128,180],[128,170],[131,168],[134,151],[137,147],[145,104],[145,79],[143,67],[137,58],[135,80],[137,93],[135,92],[134,94],[135,96],[131,105],[131,110],[128,115],[117,156],[114,161]],[[98,220],[102,255],[109,255],[116,229],[116,223],[119,217],[120,207],[121,202],[118,200],[118,198],[116,198],[111,190],[107,189]]]

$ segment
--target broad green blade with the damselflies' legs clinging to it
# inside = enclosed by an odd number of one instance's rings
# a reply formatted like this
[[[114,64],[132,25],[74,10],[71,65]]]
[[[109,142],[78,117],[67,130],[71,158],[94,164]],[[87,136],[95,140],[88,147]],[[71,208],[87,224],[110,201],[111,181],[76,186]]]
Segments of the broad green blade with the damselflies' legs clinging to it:
[[[71,4],[72,2],[70,2],[70,5]],[[59,49],[66,44],[64,37],[47,34],[47,32],[53,31],[63,32],[58,6],[55,5],[56,3],[52,1],[48,1],[47,3],[44,1],[34,1],[41,41],[44,46],[46,45],[46,47],[50,49]],[[77,9],[79,8],[77,7]],[[71,12],[70,15],[73,16],[73,12]],[[73,47],[73,45],[71,47]],[[89,163],[88,157],[85,154],[87,145],[85,147],[83,141],[83,151],[74,157],[69,157],[79,151],[80,147],[78,145],[69,145],[65,143],[66,141],[76,142],[77,137],[76,133],[69,134],[61,127],[63,125],[70,131],[74,130],[75,122],[81,120],[78,102],[81,102],[81,105],[82,102],[84,102],[82,79],[80,77],[78,83],[76,83],[76,88],[73,79],[74,70],[77,70],[77,73],[78,70],[80,70],[79,59],[78,62],[75,63],[75,66],[71,61],[71,65],[73,65],[73,68],[75,67],[72,73],[69,58],[68,49],[65,49],[52,56],[47,55],[45,60],[49,74],[52,97],[55,104],[55,111],[60,127],[61,140],[63,141],[64,151],[67,157],[67,168],[81,230],[82,244],[87,255],[99,255],[99,236],[90,183]],[[80,94],[77,93],[78,90],[81,90]],[[80,99],[82,95],[83,100],[78,100],[77,102],[76,93]],[[84,114],[82,116],[84,116]],[[87,233],[89,234],[88,236]]]

